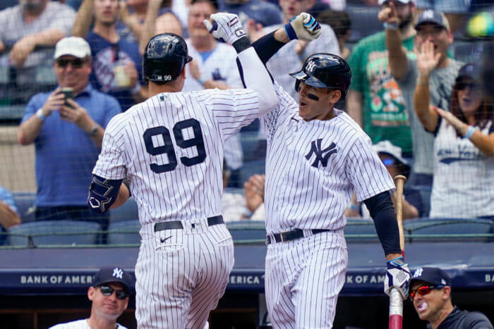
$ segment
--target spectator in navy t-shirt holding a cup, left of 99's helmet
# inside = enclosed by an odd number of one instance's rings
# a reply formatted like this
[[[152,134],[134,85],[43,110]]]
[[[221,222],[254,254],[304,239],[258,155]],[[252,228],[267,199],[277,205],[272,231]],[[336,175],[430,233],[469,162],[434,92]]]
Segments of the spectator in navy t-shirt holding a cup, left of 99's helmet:
[[[84,0],[80,6],[72,35],[85,37],[91,47],[94,87],[115,97],[123,111],[147,98],[143,83],[142,57],[138,44],[119,36],[116,23],[119,18],[118,0]],[[91,15],[92,31],[88,33]]]

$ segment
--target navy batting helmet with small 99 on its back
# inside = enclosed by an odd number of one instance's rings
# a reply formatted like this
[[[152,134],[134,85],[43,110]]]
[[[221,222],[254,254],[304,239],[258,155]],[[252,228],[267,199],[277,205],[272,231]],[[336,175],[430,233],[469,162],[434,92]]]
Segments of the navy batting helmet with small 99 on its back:
[[[147,42],[143,55],[143,79],[154,82],[169,82],[179,77],[188,56],[187,44],[179,35],[162,33]]]

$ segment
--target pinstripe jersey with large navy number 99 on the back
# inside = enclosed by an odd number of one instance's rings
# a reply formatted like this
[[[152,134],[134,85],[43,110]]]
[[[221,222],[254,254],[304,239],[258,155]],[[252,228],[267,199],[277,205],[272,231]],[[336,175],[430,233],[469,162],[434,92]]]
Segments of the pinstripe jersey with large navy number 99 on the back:
[[[259,114],[251,89],[163,93],[115,116],[93,174],[128,178],[140,233],[221,213],[223,144]]]

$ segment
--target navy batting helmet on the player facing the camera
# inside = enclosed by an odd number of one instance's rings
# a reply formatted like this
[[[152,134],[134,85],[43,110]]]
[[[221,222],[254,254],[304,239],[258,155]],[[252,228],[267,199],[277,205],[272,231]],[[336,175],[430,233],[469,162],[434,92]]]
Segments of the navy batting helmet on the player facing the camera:
[[[347,95],[351,83],[350,66],[347,61],[334,54],[313,54],[306,59],[299,72],[290,75],[296,78],[297,92],[300,82],[303,81],[313,87],[339,89],[342,98]]]

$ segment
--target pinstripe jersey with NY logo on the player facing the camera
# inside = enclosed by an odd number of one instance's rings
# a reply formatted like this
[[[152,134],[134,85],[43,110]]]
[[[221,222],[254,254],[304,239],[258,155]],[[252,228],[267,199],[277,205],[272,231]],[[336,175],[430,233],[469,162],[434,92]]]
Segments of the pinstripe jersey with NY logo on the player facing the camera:
[[[370,138],[347,113],[305,121],[279,85],[279,104],[261,118],[267,139],[266,231],[337,230],[355,191],[363,201],[394,189]]]

